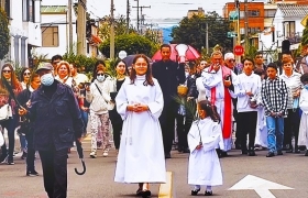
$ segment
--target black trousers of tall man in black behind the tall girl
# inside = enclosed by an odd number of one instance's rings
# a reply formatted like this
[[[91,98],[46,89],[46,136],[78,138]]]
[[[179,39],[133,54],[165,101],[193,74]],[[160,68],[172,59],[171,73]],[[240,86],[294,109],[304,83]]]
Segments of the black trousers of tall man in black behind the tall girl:
[[[164,106],[163,112],[160,117],[160,124],[162,128],[164,152],[168,154],[173,147],[174,132],[176,119],[176,105]]]

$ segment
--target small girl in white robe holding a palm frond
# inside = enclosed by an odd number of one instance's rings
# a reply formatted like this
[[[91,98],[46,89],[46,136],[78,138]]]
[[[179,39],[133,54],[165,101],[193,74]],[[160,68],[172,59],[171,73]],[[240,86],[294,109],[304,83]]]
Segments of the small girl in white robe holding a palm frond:
[[[205,195],[211,196],[212,186],[222,185],[222,173],[216,148],[223,148],[220,119],[216,107],[207,100],[198,102],[200,120],[193,123],[188,133],[190,150],[188,165],[188,184],[195,185],[193,196],[207,186]]]

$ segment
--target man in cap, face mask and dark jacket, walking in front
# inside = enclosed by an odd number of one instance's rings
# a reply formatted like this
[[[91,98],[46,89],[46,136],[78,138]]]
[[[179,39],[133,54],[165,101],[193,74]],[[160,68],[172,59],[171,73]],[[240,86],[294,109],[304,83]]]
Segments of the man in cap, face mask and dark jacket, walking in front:
[[[67,150],[82,133],[84,122],[70,87],[55,80],[53,66],[41,64],[41,86],[19,109],[33,123],[34,150],[38,151],[44,187],[50,198],[67,197]]]

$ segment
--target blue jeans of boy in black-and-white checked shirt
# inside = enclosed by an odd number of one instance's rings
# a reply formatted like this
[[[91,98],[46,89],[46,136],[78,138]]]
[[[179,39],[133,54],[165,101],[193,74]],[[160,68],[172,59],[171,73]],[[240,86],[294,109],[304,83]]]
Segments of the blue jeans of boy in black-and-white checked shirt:
[[[284,118],[266,117],[267,148],[274,153],[283,150],[284,143]]]

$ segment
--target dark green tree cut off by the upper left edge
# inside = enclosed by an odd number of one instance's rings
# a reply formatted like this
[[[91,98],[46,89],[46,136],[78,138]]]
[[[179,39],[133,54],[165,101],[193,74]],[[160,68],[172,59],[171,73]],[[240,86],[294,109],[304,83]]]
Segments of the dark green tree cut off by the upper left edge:
[[[10,47],[10,30],[9,30],[9,21],[7,18],[7,13],[0,7],[0,59],[3,59],[4,56],[9,53]]]

